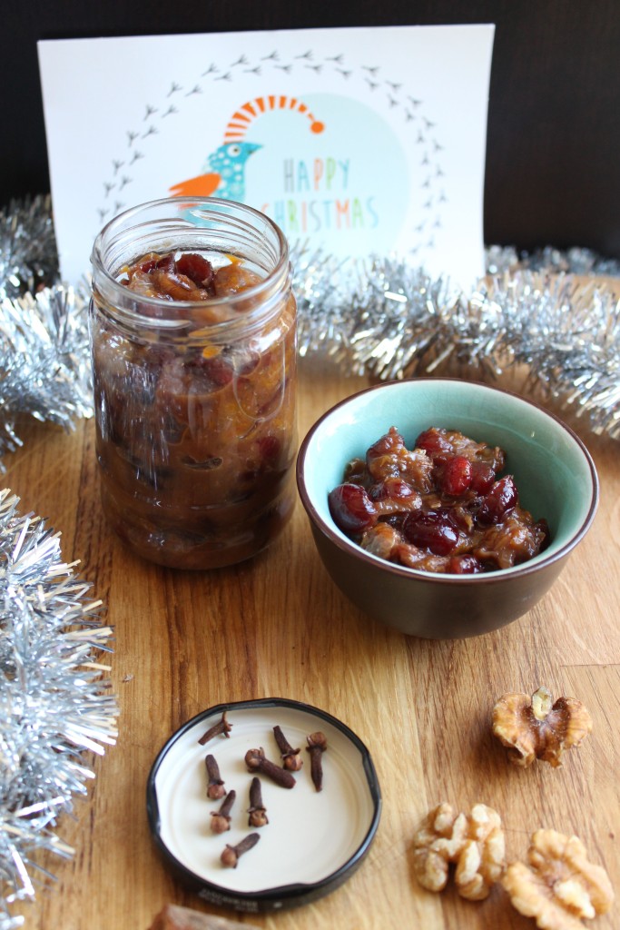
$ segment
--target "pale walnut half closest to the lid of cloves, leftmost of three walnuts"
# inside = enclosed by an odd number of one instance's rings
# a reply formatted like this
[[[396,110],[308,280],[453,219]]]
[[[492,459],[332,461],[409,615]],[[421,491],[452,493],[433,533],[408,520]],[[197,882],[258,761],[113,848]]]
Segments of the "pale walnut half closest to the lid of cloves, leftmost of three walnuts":
[[[459,895],[481,901],[505,865],[499,814],[486,804],[474,804],[468,815],[456,815],[452,804],[438,804],[416,832],[413,861],[418,882],[429,891],[442,891],[454,863]]]

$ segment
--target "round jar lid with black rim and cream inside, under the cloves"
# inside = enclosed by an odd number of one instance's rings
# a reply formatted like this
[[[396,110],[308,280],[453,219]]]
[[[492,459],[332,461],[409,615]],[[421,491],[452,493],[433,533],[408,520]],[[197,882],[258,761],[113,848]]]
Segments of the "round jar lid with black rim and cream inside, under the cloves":
[[[201,737],[221,720],[228,737]],[[300,747],[303,767],[294,788],[283,788],[259,774],[269,823],[248,826],[249,786],[244,763],[250,749],[264,748],[280,763],[273,727],[279,725],[292,747]],[[307,737],[322,731],[323,789],[310,777]],[[206,796],[205,756],[216,759],[226,791],[235,790],[231,830],[210,829],[211,812],[221,801]],[[246,912],[283,910],[315,901],[344,883],[370,848],[381,815],[381,793],[369,751],[350,728],[325,711],[272,697],[219,704],[178,729],[159,752],[147,784],[152,835],[180,880],[205,901]],[[257,832],[256,846],[226,868],[220,854]]]

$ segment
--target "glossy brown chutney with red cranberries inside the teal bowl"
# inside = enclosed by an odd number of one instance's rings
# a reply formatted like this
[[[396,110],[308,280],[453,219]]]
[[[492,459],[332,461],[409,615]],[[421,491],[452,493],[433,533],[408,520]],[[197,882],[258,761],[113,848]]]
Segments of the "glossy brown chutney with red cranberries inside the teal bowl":
[[[347,464],[330,512],[354,542],[397,565],[454,575],[521,565],[549,531],[520,506],[512,475],[498,477],[505,460],[497,446],[436,427],[410,450],[391,426]]]

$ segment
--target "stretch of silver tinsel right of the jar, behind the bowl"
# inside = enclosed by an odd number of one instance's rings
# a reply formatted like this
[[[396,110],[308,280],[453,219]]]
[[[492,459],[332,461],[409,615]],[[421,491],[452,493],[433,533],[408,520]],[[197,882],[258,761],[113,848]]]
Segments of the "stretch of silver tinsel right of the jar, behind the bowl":
[[[620,438],[620,284],[598,286],[591,253],[574,249],[580,278],[555,264],[514,270],[487,252],[494,272],[472,294],[401,260],[296,260],[300,353],[324,352],[354,374],[389,380],[459,373],[495,380],[525,373],[523,391]],[[606,266],[612,272],[613,264]],[[617,271],[617,268],[614,269]],[[585,276],[584,276],[585,275]]]

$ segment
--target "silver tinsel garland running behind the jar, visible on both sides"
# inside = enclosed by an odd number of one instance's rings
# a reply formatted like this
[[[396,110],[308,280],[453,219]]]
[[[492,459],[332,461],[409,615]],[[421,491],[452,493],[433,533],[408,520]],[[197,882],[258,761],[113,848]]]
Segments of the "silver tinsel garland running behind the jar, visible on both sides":
[[[21,414],[65,428],[92,414],[88,286],[55,280],[48,200],[11,209],[0,215],[0,470],[21,444]],[[618,303],[610,286],[584,280],[619,277],[615,259],[583,248],[518,256],[492,246],[488,280],[472,294],[404,259],[335,259],[298,244],[292,260],[302,355],[323,352],[376,379],[446,366],[496,379],[525,368],[523,391],[570,410],[588,430],[620,436]]]

